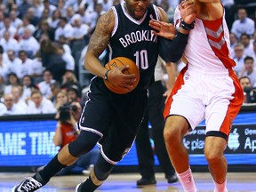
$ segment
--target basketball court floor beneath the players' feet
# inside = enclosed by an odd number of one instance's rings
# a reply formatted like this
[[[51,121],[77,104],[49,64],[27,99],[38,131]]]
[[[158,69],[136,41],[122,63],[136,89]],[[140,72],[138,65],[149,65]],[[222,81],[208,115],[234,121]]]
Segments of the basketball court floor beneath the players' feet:
[[[33,173],[32,173],[33,174]],[[12,187],[24,177],[32,175],[27,172],[0,172],[0,192],[11,192]],[[194,173],[196,187],[199,191],[213,191],[211,176],[208,172]],[[85,180],[84,175],[53,177],[50,182],[39,189],[39,192],[75,192],[76,185]],[[138,173],[113,173],[108,180],[96,191],[106,192],[181,192],[180,182],[168,184],[163,173],[156,173],[156,185],[136,187],[136,180],[140,179]],[[255,172],[228,173],[228,191],[256,192]]]

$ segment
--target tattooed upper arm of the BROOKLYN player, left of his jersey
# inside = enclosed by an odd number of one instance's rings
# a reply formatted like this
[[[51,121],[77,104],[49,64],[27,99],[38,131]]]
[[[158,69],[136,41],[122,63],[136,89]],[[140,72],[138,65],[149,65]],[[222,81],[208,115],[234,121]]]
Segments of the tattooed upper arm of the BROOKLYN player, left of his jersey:
[[[108,11],[100,16],[90,38],[87,52],[92,53],[97,58],[100,56],[109,43],[114,24],[115,17],[113,11]]]

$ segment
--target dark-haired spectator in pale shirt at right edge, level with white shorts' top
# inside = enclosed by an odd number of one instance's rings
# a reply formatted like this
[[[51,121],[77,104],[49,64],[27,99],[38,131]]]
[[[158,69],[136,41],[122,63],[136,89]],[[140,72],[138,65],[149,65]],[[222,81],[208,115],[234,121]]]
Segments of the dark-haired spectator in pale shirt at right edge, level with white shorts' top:
[[[256,70],[254,68],[254,60],[251,56],[244,58],[244,71],[242,71],[240,76],[248,76],[252,86],[256,87]]]

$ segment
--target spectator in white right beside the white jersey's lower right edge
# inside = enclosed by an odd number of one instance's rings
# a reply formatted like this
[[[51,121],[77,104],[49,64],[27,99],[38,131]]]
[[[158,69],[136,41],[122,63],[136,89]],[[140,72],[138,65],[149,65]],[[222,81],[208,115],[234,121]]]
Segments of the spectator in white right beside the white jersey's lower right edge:
[[[236,66],[234,68],[234,71],[236,72],[236,76],[240,76],[243,69],[244,69],[244,44],[238,43],[235,45],[234,48],[235,56],[234,60],[236,62]]]

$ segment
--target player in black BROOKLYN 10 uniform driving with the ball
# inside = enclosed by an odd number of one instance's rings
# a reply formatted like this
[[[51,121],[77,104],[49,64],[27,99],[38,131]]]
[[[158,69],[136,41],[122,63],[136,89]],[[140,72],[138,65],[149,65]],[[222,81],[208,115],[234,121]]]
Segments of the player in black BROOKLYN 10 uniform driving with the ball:
[[[184,17],[189,16],[188,8]],[[84,58],[84,67],[92,72],[89,100],[85,103],[77,127],[81,130],[77,140],[70,142],[33,177],[28,177],[12,191],[36,191],[43,187],[62,168],[73,164],[79,156],[99,143],[100,157],[89,178],[76,186],[77,192],[91,192],[107,180],[108,175],[132,146],[147,104],[147,89],[154,76],[159,42],[148,26],[151,19],[168,21],[162,8],[150,0],[125,0],[117,4],[98,20]],[[173,28],[173,36],[175,36]],[[184,34],[185,33],[185,34]],[[173,39],[188,39],[187,31],[180,31]],[[185,48],[181,47],[181,57]],[[179,44],[180,45],[180,44]],[[108,71],[98,59],[109,48],[109,60],[115,57],[132,59],[140,68],[140,83],[127,94],[110,92],[103,79],[111,84],[132,89],[134,75],[124,75],[126,66]],[[173,52],[177,54],[177,52]]]

